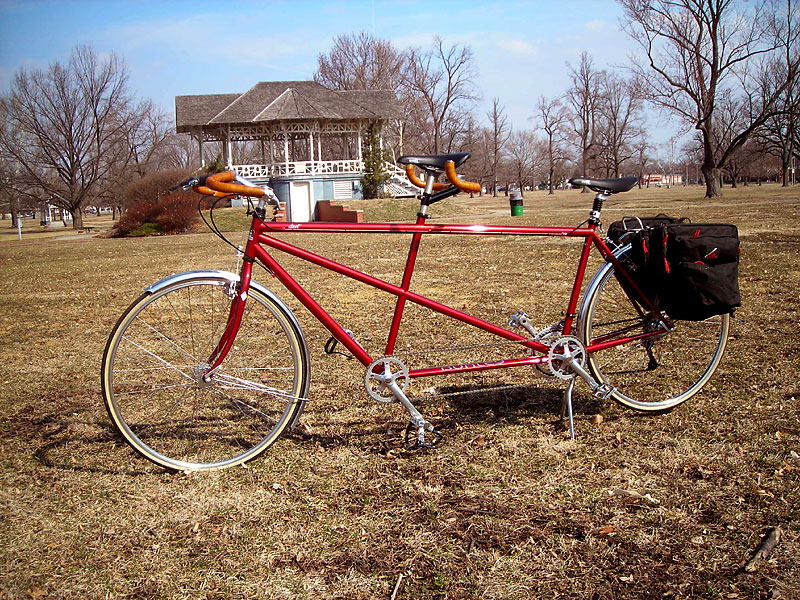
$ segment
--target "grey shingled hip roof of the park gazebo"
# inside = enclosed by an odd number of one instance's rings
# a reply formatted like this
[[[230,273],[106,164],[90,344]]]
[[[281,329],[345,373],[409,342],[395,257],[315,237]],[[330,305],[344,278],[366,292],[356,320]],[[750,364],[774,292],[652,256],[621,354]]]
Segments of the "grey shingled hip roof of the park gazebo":
[[[178,133],[197,126],[279,121],[385,120],[402,116],[391,90],[330,90],[315,81],[262,81],[244,94],[175,96]]]

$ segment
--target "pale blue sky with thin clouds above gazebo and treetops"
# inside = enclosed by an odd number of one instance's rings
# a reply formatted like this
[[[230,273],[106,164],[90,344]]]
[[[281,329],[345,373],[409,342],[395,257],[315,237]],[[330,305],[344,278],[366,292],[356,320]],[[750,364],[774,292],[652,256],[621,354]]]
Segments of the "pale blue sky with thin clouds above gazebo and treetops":
[[[398,48],[440,35],[472,47],[481,116],[497,97],[515,128],[530,129],[538,98],[566,91],[566,63],[582,51],[599,68],[627,62],[620,15],[611,0],[0,0],[0,93],[20,67],[46,68],[88,43],[124,58],[133,91],[171,113],[176,95],[311,79],[342,33],[365,30]]]

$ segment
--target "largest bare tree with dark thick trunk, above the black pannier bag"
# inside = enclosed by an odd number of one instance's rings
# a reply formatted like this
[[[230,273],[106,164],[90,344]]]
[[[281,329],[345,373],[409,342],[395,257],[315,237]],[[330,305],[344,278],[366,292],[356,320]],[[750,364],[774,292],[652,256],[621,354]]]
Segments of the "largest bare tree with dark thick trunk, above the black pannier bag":
[[[749,5],[737,0],[620,0],[625,27],[646,56],[634,71],[647,77],[648,98],[691,123],[703,141],[706,197],[721,195],[719,171],[753,132],[780,109],[776,102],[796,80],[796,34],[780,16],[792,0]],[[796,11],[794,11],[796,12]],[[788,64],[776,61],[782,47]],[[792,47],[795,46],[795,49]],[[763,74],[777,69],[779,82],[767,90]],[[715,151],[717,104],[725,90],[742,97],[747,114],[730,143]]]

